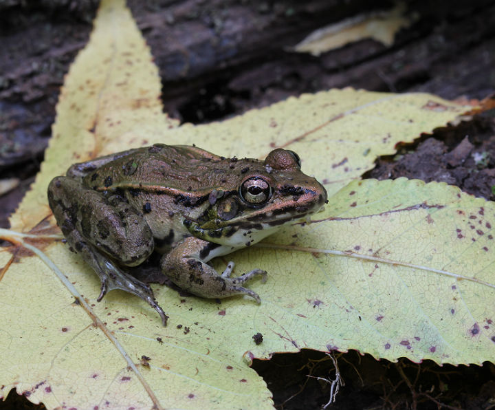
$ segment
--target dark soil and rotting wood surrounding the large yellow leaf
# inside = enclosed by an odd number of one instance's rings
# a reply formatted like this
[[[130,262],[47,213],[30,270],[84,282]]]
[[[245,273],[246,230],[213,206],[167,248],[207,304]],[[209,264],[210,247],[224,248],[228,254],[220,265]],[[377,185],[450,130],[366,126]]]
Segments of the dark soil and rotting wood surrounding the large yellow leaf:
[[[43,161],[58,89],[84,47],[95,1],[0,0],[0,175],[21,179],[0,197],[0,226],[14,211]],[[371,39],[314,57],[287,50],[315,28],[391,1],[129,0],[159,65],[165,111],[184,122],[210,122],[287,96],[331,87],[428,91],[482,99],[495,91],[495,1],[409,0],[415,23],[392,47]],[[418,136],[380,158],[365,177],[444,181],[495,199],[495,120],[469,122]],[[340,388],[333,409],[490,409],[495,367],[439,367],[338,354]],[[335,378],[321,352],[255,360],[279,409],[319,409]],[[443,405],[443,404],[445,405]],[[32,409],[12,392],[0,409]]]

